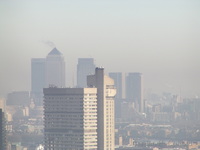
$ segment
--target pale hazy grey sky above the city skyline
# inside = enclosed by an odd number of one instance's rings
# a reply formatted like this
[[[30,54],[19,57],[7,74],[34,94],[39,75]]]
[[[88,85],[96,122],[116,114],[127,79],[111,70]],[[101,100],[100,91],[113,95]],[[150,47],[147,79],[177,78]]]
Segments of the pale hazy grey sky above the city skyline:
[[[53,42],[67,85],[77,59],[142,72],[145,91],[200,96],[200,0],[0,0],[0,97],[30,90],[31,58]]]

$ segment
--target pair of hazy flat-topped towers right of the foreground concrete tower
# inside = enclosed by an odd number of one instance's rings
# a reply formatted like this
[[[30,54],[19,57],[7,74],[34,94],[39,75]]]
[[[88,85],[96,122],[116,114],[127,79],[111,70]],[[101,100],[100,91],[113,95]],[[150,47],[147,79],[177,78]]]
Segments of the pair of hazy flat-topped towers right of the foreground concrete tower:
[[[130,72],[126,74],[125,85],[122,84],[123,74],[121,72],[111,72],[109,76],[114,80],[117,90],[115,96],[115,118],[131,121],[133,112],[144,113],[142,73]]]

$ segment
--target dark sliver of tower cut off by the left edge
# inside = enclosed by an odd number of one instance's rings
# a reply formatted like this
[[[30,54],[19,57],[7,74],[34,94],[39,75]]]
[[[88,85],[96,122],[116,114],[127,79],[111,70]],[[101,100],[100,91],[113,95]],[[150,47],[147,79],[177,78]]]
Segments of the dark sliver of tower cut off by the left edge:
[[[6,150],[5,118],[1,108],[0,108],[0,150]]]

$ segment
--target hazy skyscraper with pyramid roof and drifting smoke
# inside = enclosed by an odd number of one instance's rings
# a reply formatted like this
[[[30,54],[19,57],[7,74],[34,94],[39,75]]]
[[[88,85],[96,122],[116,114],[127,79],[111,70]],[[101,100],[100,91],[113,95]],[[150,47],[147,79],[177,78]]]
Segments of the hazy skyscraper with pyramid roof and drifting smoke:
[[[46,57],[46,87],[49,86],[65,87],[65,61],[56,48]]]

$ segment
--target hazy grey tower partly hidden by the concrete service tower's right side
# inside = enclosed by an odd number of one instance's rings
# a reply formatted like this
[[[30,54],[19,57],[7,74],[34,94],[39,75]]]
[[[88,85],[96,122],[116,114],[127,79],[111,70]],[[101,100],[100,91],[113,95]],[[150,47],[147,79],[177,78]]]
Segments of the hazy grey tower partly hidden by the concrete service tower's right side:
[[[115,96],[115,118],[121,117],[121,102],[122,102],[122,73],[121,72],[111,72],[109,77],[114,80],[114,85],[117,90]]]

